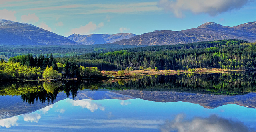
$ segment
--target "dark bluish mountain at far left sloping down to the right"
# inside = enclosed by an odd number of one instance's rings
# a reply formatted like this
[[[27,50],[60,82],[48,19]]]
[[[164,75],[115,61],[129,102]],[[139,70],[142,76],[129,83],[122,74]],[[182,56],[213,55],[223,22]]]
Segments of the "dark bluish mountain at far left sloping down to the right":
[[[0,45],[80,45],[31,24],[0,19]]]

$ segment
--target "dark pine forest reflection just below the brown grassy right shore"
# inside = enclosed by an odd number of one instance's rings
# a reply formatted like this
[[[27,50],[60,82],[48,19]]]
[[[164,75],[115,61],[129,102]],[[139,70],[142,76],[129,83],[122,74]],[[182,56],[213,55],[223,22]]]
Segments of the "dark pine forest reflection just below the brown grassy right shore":
[[[255,73],[182,74],[144,76],[140,79],[118,80],[101,89],[177,91],[216,95],[243,95],[256,91]]]

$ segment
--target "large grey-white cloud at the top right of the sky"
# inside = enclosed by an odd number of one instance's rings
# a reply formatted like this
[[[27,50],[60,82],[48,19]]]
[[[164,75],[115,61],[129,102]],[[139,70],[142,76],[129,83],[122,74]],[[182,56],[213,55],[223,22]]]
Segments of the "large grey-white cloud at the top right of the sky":
[[[222,12],[240,9],[250,0],[159,0],[158,5],[174,13],[178,18],[184,17],[183,12],[194,14],[206,13],[216,16]]]

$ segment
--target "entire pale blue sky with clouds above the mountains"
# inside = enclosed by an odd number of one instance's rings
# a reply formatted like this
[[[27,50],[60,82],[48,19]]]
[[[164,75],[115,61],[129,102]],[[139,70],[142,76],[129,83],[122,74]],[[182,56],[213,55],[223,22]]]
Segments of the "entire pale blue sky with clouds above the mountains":
[[[0,0],[0,18],[58,35],[180,31],[256,21],[256,0]]]

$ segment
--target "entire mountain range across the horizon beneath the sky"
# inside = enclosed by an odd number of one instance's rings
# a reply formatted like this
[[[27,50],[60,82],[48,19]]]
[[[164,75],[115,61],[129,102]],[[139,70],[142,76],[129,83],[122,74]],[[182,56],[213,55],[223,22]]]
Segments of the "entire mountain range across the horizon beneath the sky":
[[[248,22],[238,26],[222,26],[214,22],[206,22],[197,28],[182,31],[153,31],[142,35],[131,33],[119,34],[73,34],[68,37],[57,35],[31,24],[0,19],[0,45],[174,45],[199,41],[222,39],[243,39],[256,41],[256,22]]]

